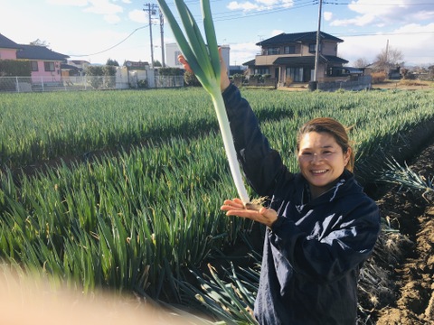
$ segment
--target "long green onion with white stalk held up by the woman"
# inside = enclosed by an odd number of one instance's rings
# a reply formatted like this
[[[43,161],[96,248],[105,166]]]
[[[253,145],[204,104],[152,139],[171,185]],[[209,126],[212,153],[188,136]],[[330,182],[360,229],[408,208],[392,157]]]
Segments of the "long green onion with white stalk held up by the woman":
[[[165,0],[158,0],[158,4],[160,5],[163,14],[165,14],[165,19],[169,23],[172,32],[174,32],[175,40],[178,43],[185,60],[187,60],[190,68],[193,70],[197,79],[201,82],[203,88],[205,88],[205,90],[211,95],[212,104],[219,121],[223,144],[228,157],[235,187],[243,203],[249,203],[249,195],[242,180],[240,165],[237,160],[237,154],[235,152],[231,135],[231,128],[229,126],[229,120],[226,115],[226,108],[224,107],[222,91],[220,88],[221,62],[217,39],[215,37],[214,24],[212,23],[210,1],[201,0],[203,29],[208,44],[205,44],[202,33],[200,32],[197,23],[194,21],[193,14],[185,5],[183,0],[175,0],[175,5],[184,25],[184,32],[188,41]]]

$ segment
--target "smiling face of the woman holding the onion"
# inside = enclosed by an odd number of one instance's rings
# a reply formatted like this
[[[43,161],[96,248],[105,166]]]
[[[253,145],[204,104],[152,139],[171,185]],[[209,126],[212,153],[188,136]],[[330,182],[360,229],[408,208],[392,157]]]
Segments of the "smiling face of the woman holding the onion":
[[[335,137],[326,132],[303,135],[297,159],[301,173],[309,182],[313,198],[335,185],[348,163],[350,151],[348,149],[344,153]]]

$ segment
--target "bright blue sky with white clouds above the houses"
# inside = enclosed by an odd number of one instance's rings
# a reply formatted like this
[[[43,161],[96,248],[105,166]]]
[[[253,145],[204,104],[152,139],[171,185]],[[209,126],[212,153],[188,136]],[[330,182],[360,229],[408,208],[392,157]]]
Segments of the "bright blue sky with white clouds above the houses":
[[[173,0],[166,1],[177,17]],[[199,0],[184,1],[202,26]],[[210,1],[217,42],[230,46],[231,65],[253,60],[260,41],[318,25],[344,41],[338,56],[348,66],[372,63],[386,48],[401,51],[407,67],[434,64],[434,0],[323,0],[321,11],[320,0]],[[169,25],[160,26],[156,0],[0,0],[0,14],[5,37],[18,44],[39,39],[70,60],[149,62],[152,35],[154,60],[162,62],[161,35],[175,42]]]

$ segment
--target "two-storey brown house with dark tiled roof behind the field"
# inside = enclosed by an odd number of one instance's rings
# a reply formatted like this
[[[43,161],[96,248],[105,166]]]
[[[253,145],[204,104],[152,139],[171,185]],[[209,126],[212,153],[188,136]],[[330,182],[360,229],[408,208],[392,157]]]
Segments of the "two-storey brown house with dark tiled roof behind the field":
[[[320,32],[317,80],[333,79],[333,74],[347,60],[337,56],[337,45],[343,40]],[[258,42],[260,54],[245,62],[250,75],[270,75],[283,85],[288,78],[294,82],[314,79],[316,61],[316,32],[282,32]]]

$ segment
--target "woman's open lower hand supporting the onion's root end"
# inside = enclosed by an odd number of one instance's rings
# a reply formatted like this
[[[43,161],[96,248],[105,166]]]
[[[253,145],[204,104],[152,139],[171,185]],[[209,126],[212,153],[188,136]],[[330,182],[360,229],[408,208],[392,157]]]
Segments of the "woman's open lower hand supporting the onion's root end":
[[[240,199],[225,200],[221,209],[226,211],[226,216],[250,218],[267,227],[271,227],[278,219],[278,213],[274,209],[260,208],[258,211],[246,209]]]

